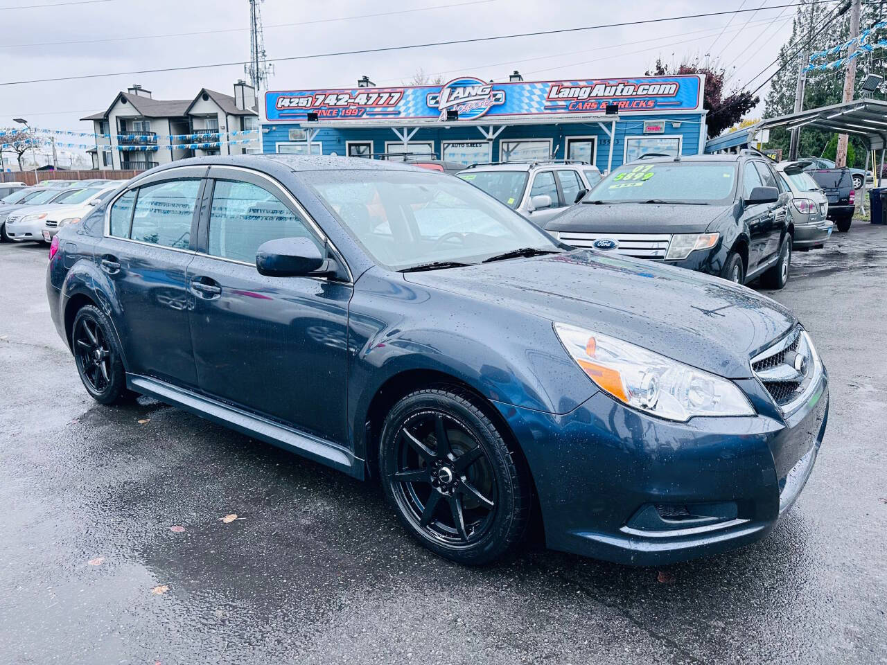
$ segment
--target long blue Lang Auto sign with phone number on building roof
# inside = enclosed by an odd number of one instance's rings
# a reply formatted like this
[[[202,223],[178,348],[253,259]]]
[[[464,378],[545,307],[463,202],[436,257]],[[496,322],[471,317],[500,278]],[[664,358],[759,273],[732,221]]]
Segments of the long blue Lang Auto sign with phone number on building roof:
[[[265,93],[268,121],[474,121],[485,117],[569,116],[699,111],[703,77],[695,74],[587,81],[484,82],[461,76],[443,85]],[[448,113],[450,112],[450,113]],[[455,112],[455,113],[453,113]]]

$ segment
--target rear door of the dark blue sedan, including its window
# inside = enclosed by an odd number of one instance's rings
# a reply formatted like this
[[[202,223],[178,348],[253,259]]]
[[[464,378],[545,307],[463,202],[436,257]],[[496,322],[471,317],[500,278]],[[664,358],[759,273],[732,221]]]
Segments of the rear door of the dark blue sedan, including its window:
[[[197,384],[186,270],[194,257],[206,167],[171,168],[118,196],[95,261],[114,289],[114,326],[128,370]]]

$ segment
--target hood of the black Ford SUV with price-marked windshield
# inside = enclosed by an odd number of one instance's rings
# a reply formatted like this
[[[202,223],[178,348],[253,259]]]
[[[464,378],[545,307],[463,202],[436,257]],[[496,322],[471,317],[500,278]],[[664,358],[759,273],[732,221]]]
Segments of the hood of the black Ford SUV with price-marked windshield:
[[[702,233],[733,206],[660,203],[580,203],[546,224],[546,231],[585,233]]]

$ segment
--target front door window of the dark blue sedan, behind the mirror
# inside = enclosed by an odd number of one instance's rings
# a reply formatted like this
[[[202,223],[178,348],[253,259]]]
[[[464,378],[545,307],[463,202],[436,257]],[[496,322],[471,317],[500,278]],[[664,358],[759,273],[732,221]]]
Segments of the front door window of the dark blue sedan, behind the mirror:
[[[279,238],[310,239],[323,254],[323,244],[302,217],[256,184],[216,180],[209,211],[208,254],[255,263],[259,246]]]

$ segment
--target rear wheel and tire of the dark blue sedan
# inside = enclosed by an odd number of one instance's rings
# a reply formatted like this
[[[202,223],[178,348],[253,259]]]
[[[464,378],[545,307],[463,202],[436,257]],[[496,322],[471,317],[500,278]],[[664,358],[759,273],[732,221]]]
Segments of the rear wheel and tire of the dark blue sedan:
[[[126,387],[126,370],[114,326],[97,307],[77,310],[71,326],[71,348],[86,392],[101,404],[131,402],[136,396]]]

